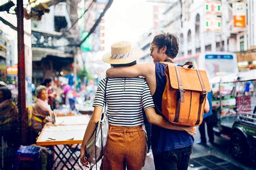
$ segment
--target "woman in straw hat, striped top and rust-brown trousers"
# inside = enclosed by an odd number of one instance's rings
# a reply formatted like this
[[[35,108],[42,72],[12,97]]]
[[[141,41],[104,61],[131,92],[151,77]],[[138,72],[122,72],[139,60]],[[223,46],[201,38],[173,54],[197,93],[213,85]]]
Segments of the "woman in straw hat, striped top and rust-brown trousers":
[[[120,41],[111,46],[111,52],[103,56],[103,61],[119,69],[122,66],[136,65],[137,58],[142,54],[140,49],[132,49],[130,42]],[[103,169],[142,169],[144,166],[147,145],[142,107],[152,124],[161,128],[186,130],[191,134],[194,132],[193,127],[173,125],[156,114],[150,89],[144,78],[105,78],[98,84],[93,101],[95,109],[84,134],[80,154],[84,166],[88,165],[87,159],[83,159],[86,156],[85,146],[100,119],[105,97],[109,136],[102,162]]]

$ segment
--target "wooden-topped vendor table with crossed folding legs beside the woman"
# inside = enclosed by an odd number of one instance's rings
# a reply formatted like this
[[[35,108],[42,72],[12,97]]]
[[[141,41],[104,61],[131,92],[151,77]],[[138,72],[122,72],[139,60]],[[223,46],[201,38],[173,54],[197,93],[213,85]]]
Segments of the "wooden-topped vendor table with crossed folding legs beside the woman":
[[[79,124],[81,122],[84,124]],[[78,167],[80,169],[83,168],[78,164],[78,160],[80,158],[78,145],[82,144],[88,122],[89,117],[86,118],[85,116],[66,116],[56,118],[56,123],[62,124],[46,124],[44,126],[36,143],[39,146],[54,146],[53,152],[55,153],[55,169],[77,169]],[[71,147],[72,145],[75,145],[76,147],[73,148]]]

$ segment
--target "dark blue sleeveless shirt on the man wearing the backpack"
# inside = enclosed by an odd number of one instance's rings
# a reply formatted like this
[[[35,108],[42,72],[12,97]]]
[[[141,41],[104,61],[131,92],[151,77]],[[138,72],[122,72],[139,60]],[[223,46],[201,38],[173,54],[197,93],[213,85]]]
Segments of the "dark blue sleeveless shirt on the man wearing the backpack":
[[[164,74],[165,65],[163,63],[156,62],[156,80],[157,87],[156,92],[153,95],[153,101],[156,105],[157,114],[161,114],[161,101],[166,84],[166,76]],[[194,143],[194,138],[190,134],[184,131],[169,130],[160,128],[159,126],[151,126],[151,141],[153,153],[160,153],[164,151],[170,151],[177,148],[183,148],[191,146]]]

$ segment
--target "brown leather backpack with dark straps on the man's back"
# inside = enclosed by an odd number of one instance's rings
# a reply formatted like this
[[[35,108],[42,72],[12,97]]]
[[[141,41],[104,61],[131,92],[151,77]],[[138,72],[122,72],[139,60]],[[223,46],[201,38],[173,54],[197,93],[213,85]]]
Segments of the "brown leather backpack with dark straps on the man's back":
[[[205,70],[193,69],[192,62],[179,67],[166,65],[166,86],[162,98],[162,113],[174,124],[198,126],[203,121],[207,92],[211,86]],[[187,68],[184,66],[188,65]]]

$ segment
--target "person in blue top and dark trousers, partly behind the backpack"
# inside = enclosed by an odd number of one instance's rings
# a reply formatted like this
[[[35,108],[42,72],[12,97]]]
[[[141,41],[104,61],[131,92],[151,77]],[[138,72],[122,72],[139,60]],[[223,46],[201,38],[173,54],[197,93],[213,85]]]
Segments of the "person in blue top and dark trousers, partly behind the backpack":
[[[205,136],[205,123],[207,124],[207,134],[209,137],[210,144],[214,145],[214,132],[213,132],[213,114],[212,114],[212,91],[207,94],[207,100],[210,105],[210,110],[204,114],[203,122],[199,125],[199,132],[201,140],[198,141],[199,145],[207,145],[206,144],[206,136]]]

